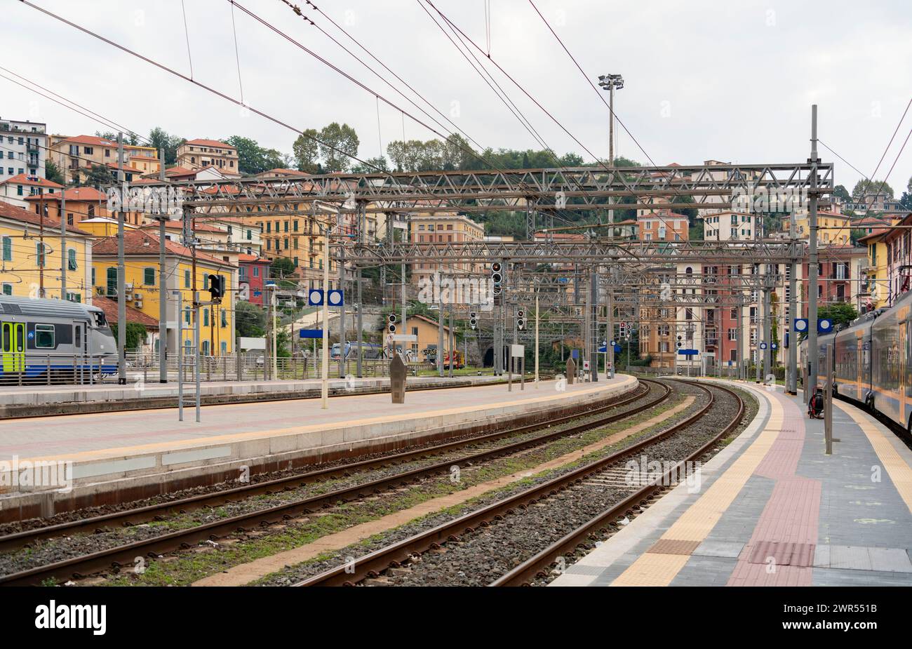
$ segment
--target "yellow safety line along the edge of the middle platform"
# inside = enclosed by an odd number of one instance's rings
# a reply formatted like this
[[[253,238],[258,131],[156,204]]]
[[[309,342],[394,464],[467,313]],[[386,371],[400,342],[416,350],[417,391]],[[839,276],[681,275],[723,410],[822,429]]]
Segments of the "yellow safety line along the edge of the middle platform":
[[[97,450],[88,450],[88,451],[79,451],[77,453],[64,453],[60,455],[45,456],[40,458],[25,458],[28,461],[52,461],[52,460],[68,460],[73,462],[88,462],[96,459],[109,459],[109,458],[122,458],[131,455],[138,455],[141,453],[152,453],[159,451],[176,451],[184,448],[199,448],[217,444],[224,443],[233,443],[233,442],[244,442],[244,441],[253,441],[256,439],[263,438],[274,438],[282,437],[287,435],[303,435],[305,433],[311,433],[321,430],[332,430],[335,428],[354,428],[358,426],[369,426],[371,424],[382,424],[392,421],[405,421],[408,419],[414,418],[425,418],[425,417],[446,417],[448,415],[459,415],[466,412],[475,412],[479,409],[489,410],[492,408],[498,407],[510,407],[523,404],[535,404],[535,403],[544,403],[548,401],[554,401],[557,399],[562,399],[568,395],[574,397],[582,397],[585,395],[590,395],[601,390],[605,390],[608,387],[625,387],[628,386],[631,382],[636,381],[637,379],[633,376],[627,376],[627,378],[622,383],[600,385],[596,387],[589,387],[583,390],[574,390],[571,393],[560,392],[553,396],[548,397],[533,397],[529,399],[517,399],[515,401],[498,401],[492,404],[482,405],[479,407],[475,406],[462,406],[462,407],[451,407],[445,408],[442,410],[425,410],[419,412],[405,413],[402,415],[388,415],[384,417],[368,417],[363,419],[347,419],[342,421],[328,421],[322,424],[312,424],[308,426],[295,426],[293,428],[274,428],[270,430],[248,430],[241,433],[227,433],[225,435],[212,435],[205,438],[186,438],[186,439],[176,439],[169,442],[151,442],[149,444],[139,444],[130,447],[116,447],[116,448],[98,448]],[[184,407],[187,407],[186,404]],[[188,428],[188,432],[192,432],[192,428]],[[23,460],[20,460],[23,461]]]

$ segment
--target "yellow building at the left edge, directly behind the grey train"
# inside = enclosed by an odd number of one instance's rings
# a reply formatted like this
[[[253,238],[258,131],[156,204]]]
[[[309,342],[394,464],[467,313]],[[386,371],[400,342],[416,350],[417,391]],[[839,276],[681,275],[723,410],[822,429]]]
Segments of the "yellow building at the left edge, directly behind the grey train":
[[[59,221],[0,202],[0,292],[19,297],[62,298]],[[67,299],[91,302],[92,237],[67,228]],[[44,292],[42,294],[42,286]]]

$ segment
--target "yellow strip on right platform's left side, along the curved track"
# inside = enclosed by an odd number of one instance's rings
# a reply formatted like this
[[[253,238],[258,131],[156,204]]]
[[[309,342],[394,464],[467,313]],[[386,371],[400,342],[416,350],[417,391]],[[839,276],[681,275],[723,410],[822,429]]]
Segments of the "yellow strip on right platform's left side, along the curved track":
[[[668,528],[662,540],[702,542],[731,506],[748,479],[772,448],[782,432],[784,408],[778,399],[763,395],[770,402],[770,417],[760,435],[753,441],[731,467],[710,485],[696,502],[684,511]],[[689,554],[659,554],[644,552],[617,576],[612,586],[666,586],[687,564]]]

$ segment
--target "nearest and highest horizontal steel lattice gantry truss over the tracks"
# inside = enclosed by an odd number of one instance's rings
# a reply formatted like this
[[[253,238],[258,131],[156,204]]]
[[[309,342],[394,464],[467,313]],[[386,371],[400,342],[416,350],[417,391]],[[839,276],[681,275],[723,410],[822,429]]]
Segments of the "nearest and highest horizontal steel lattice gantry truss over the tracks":
[[[816,169],[816,179],[812,170]],[[162,183],[164,184],[164,183]],[[332,173],[300,178],[189,180],[181,188],[187,207],[206,212],[243,203],[265,214],[306,213],[310,201],[365,201],[369,212],[587,211],[607,199],[634,197],[662,208],[731,207],[736,194],[807,195],[825,202],[833,190],[832,164],[701,164],[668,167],[572,167],[535,170],[457,170]],[[149,183],[148,186],[155,185]],[[693,201],[683,201],[691,197]],[[658,199],[658,201],[657,201]],[[351,205],[351,209],[354,206]],[[626,205],[627,209],[637,207]]]

